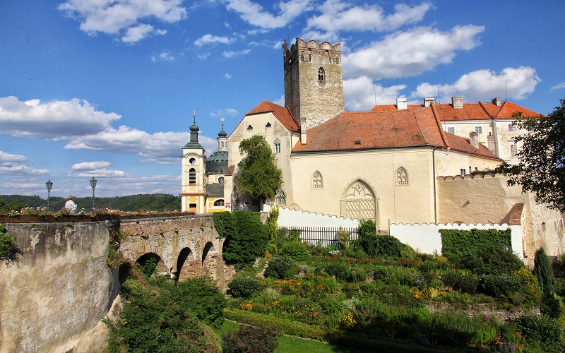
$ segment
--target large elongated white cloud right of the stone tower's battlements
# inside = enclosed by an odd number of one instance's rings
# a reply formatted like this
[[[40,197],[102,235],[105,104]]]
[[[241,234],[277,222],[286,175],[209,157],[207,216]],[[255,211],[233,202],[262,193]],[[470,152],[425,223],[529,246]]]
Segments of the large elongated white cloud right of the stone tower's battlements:
[[[477,35],[483,30],[482,26],[465,25],[451,32],[427,27],[396,32],[345,55],[343,76],[368,76],[373,80],[417,76],[450,63],[458,50],[476,47]]]

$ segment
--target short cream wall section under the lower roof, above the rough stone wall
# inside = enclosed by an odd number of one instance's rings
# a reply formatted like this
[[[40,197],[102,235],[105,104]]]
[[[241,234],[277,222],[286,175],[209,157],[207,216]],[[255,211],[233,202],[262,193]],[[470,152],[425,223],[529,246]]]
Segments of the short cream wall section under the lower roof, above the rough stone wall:
[[[436,177],[459,175],[460,169],[465,169],[465,174],[479,171],[493,170],[501,163],[499,160],[474,157],[453,150],[436,150]]]

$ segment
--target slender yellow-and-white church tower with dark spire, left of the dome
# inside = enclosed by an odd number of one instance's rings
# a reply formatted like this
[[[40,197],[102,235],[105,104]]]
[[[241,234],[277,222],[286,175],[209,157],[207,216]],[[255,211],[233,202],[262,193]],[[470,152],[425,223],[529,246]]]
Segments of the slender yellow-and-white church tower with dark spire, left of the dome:
[[[204,172],[206,154],[198,143],[198,125],[196,125],[196,112],[194,123],[190,126],[190,141],[182,149],[182,212],[206,213],[206,192],[204,185]]]

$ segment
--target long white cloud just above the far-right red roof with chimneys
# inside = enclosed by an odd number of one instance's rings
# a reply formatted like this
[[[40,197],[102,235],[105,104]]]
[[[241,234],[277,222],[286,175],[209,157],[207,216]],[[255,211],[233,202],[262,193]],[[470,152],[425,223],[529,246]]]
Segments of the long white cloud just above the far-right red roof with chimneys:
[[[465,73],[453,84],[432,85],[421,83],[410,97],[435,97],[439,88],[440,101],[451,102],[451,97],[461,95],[467,102],[492,100],[494,97],[504,97],[504,91],[509,98],[521,100],[535,90],[541,79],[537,77],[535,68],[520,66],[504,68],[501,73],[490,70],[477,70]],[[505,87],[506,86],[506,87]]]

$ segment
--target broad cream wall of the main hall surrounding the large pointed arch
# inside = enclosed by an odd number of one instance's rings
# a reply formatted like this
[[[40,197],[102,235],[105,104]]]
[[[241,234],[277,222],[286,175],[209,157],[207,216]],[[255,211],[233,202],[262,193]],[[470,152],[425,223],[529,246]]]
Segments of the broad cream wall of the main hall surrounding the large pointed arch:
[[[357,179],[366,181],[378,201],[376,222],[434,222],[432,149],[372,150],[292,155],[294,201],[302,210],[341,215],[340,199]],[[396,185],[396,171],[405,167],[408,186]],[[320,172],[323,189],[312,188]]]

